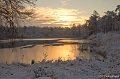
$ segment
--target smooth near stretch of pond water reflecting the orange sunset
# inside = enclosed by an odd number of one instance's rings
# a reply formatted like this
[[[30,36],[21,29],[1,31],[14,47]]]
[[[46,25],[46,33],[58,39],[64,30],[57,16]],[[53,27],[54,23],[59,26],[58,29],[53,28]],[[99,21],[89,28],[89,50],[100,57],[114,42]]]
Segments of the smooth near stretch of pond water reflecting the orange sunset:
[[[73,41],[73,40],[72,40]],[[70,41],[69,41],[70,42]],[[89,59],[88,52],[80,52],[78,44],[60,44],[60,45],[37,45],[31,48],[16,47],[14,50],[9,48],[0,49],[0,63],[27,63],[32,60],[38,62],[43,59],[73,60],[76,57]]]

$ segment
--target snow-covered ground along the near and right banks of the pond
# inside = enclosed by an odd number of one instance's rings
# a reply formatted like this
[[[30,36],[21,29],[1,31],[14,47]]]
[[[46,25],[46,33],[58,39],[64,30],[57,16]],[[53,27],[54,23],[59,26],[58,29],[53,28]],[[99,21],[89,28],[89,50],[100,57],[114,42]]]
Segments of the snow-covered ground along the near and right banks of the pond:
[[[120,34],[99,33],[88,39],[96,42],[94,53],[104,59],[0,64],[0,79],[120,79]]]

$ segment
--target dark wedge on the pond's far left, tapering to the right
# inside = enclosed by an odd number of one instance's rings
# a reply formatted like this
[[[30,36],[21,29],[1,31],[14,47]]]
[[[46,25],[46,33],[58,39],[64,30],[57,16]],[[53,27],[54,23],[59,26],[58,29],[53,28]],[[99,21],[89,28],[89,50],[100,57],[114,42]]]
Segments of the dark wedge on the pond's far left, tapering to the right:
[[[15,48],[15,47],[21,47],[21,46],[27,46],[27,45],[35,46],[40,44],[51,44],[57,41],[58,40],[14,40],[9,42],[1,42],[0,49]]]

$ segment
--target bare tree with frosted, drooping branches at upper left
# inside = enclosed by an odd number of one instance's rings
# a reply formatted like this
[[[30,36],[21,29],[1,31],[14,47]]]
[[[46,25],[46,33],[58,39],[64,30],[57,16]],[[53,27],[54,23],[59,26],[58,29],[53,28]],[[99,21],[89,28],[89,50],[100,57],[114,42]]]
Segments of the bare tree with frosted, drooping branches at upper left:
[[[26,6],[34,5],[34,1],[36,0],[0,0],[0,27],[5,27],[2,32],[6,32],[8,38],[16,38],[19,20],[32,15]]]

